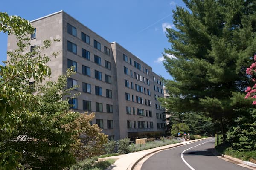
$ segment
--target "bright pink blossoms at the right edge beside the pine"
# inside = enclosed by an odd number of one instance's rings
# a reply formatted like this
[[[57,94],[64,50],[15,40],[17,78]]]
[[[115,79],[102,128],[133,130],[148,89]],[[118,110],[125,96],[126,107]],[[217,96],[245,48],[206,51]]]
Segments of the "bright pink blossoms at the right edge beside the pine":
[[[254,61],[256,61],[256,54],[253,56]],[[254,77],[256,75],[256,62],[252,63],[252,65],[246,69],[246,74]],[[255,83],[253,87],[247,87],[245,92],[247,92],[245,98],[253,98],[253,105],[256,105],[256,79],[252,78],[252,81]]]

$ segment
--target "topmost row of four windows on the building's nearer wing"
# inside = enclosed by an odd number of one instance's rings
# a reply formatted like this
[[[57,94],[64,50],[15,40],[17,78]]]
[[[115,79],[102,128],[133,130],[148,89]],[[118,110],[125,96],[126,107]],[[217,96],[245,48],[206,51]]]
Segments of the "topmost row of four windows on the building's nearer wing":
[[[73,36],[77,37],[76,27],[70,25],[69,23],[67,23],[67,32],[70,35],[73,35]],[[32,37],[32,35],[31,35],[31,37]],[[87,44],[90,44],[90,37],[89,37],[89,35],[86,35],[84,32],[81,32],[81,40],[84,41]],[[101,51],[101,44],[97,40],[93,40],[93,47],[98,49],[99,51]],[[106,46],[104,46],[104,53],[106,55],[110,56],[110,49]]]

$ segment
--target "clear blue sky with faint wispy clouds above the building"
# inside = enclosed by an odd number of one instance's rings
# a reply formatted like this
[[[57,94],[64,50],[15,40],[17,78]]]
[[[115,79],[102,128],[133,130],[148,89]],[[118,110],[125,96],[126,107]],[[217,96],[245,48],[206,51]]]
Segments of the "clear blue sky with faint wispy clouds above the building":
[[[164,48],[170,48],[165,27],[173,27],[172,9],[181,0],[13,0],[1,2],[0,12],[34,20],[64,10],[104,37],[116,41],[171,79],[162,63]],[[0,33],[0,61],[6,60],[7,35]]]

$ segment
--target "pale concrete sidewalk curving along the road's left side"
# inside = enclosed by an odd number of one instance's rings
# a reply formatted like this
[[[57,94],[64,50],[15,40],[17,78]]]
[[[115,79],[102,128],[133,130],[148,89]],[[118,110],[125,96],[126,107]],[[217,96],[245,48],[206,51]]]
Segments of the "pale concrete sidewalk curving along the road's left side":
[[[204,138],[205,139],[205,138]],[[172,147],[177,147],[180,145],[184,145],[187,143],[195,142],[195,141],[200,141],[204,139],[196,139],[196,140],[191,140],[191,141],[186,141],[186,142],[180,142],[177,144],[169,144],[166,146],[162,147],[156,147],[148,150],[142,150],[134,153],[128,153],[128,154],[123,154],[123,155],[118,155],[118,156],[111,156],[111,157],[106,157],[106,158],[99,158],[99,161],[101,160],[106,160],[106,159],[117,159],[115,163],[113,163],[110,167],[108,167],[107,170],[133,170],[134,166],[145,156],[148,156],[149,154],[155,153],[160,150],[166,150]]]

